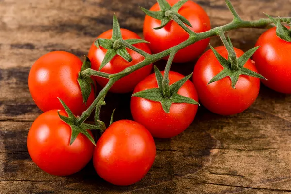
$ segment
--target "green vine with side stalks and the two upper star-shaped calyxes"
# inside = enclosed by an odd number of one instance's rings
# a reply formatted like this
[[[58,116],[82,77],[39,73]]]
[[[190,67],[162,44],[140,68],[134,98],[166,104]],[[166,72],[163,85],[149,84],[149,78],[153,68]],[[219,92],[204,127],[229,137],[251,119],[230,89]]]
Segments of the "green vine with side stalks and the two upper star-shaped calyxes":
[[[187,0],[181,0],[181,3],[185,3]],[[170,48],[167,50],[164,50],[160,53],[157,54],[148,54],[146,52],[144,52],[141,49],[138,49],[136,47],[134,47],[132,44],[134,44],[136,41],[135,39],[132,39],[134,41],[130,42],[130,41],[125,41],[122,39],[120,32],[118,32],[118,30],[116,28],[114,28],[114,23],[115,25],[118,25],[118,21],[116,16],[114,15],[114,19],[113,19],[113,38],[112,39],[97,39],[97,42],[95,43],[97,46],[102,46],[104,45],[104,48],[108,49],[108,53],[106,53],[106,55],[109,55],[109,58],[104,59],[104,63],[102,62],[101,68],[102,66],[106,65],[107,62],[110,61],[110,59],[113,58],[113,54],[118,54],[119,56],[123,57],[125,60],[130,61],[130,56],[127,55],[126,52],[124,52],[124,48],[129,48],[134,50],[135,52],[141,54],[142,56],[145,57],[145,59],[133,66],[127,67],[125,68],[123,71],[119,72],[119,73],[115,73],[115,74],[107,74],[104,72],[100,72],[100,71],[96,71],[93,70],[91,68],[87,68],[83,71],[81,71],[80,76],[82,79],[86,78],[86,77],[90,77],[90,76],[99,76],[99,77],[103,77],[103,78],[107,78],[109,79],[108,83],[105,85],[105,87],[100,91],[100,93],[98,94],[98,96],[96,97],[96,99],[94,100],[94,102],[88,107],[88,109],[86,111],[84,111],[81,116],[79,118],[77,118],[74,121],[74,125],[76,126],[80,126],[89,116],[90,114],[93,112],[93,110],[97,107],[97,111],[95,115],[95,120],[96,122],[99,122],[99,113],[100,113],[100,107],[104,104],[104,97],[106,96],[107,92],[109,91],[109,89],[113,86],[113,84],[118,81],[119,79],[123,78],[124,76],[146,66],[149,64],[152,64],[156,61],[161,60],[162,58],[170,55],[170,58],[168,60],[168,63],[166,65],[166,69],[165,69],[165,74],[164,77],[162,79],[162,94],[165,97],[170,97],[170,89],[169,89],[169,79],[168,79],[168,74],[169,74],[169,70],[170,70],[170,66],[173,60],[173,57],[175,55],[175,53],[177,53],[179,50],[194,44],[197,41],[206,39],[206,38],[210,38],[212,36],[216,36],[216,35],[220,35],[220,37],[222,37],[222,35],[227,32],[227,31],[231,31],[231,30],[235,30],[235,29],[239,29],[239,28],[266,28],[268,27],[270,24],[272,24],[275,20],[274,19],[259,19],[259,20],[254,20],[254,21],[248,21],[248,20],[243,20],[241,19],[241,17],[237,14],[237,12],[235,11],[233,5],[231,4],[231,2],[229,0],[225,0],[226,1],[226,5],[229,8],[229,10],[231,11],[232,15],[233,15],[233,20],[223,26],[219,26],[219,27],[215,27],[209,31],[206,32],[200,32],[200,33],[196,33],[193,32],[188,26],[189,22],[187,20],[185,20],[185,18],[183,18],[181,15],[177,14],[178,11],[178,7],[181,7],[181,3],[179,3],[177,6],[173,6],[170,7],[165,0],[158,0],[158,3],[160,5],[160,8],[163,8],[162,12],[152,12],[149,10],[146,10],[144,8],[141,8],[146,14],[148,15],[152,15],[152,17],[157,17],[158,19],[160,19],[162,21],[163,26],[165,26],[170,20],[174,20],[179,26],[181,26],[181,28],[183,28],[186,32],[188,32],[189,34],[189,38],[187,40],[185,40],[184,42]],[[164,4],[163,4],[164,3]],[[162,6],[161,6],[162,5]],[[161,9],[162,10],[162,9]],[[155,15],[156,14],[156,15]],[[276,21],[279,22],[285,22],[285,23],[291,23],[291,18],[277,18]],[[117,23],[116,23],[117,22]],[[187,25],[188,26],[187,26]],[[114,35],[115,33],[115,35]],[[223,39],[223,41],[226,41],[225,39]],[[141,41],[141,42],[146,42],[146,41]],[[227,43],[224,42],[226,45],[229,46],[229,44],[231,43]],[[117,49],[120,51],[118,52]],[[230,50],[231,54],[230,56],[232,56],[229,60],[231,61],[231,67],[234,70],[238,69],[237,66],[237,58],[235,56],[234,53],[232,53],[232,50]],[[156,74],[157,75],[157,74]],[[234,87],[234,85],[233,85]],[[163,107],[164,108],[164,107]],[[168,108],[166,108],[168,109]],[[165,110],[165,108],[164,108]],[[169,110],[169,109],[168,109]]]

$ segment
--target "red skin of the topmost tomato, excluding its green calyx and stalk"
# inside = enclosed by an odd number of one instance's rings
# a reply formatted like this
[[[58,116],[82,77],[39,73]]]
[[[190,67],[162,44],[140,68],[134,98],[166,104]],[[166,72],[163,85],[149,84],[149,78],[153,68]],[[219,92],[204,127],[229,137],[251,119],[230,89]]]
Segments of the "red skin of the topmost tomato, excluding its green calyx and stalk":
[[[179,0],[167,0],[170,5],[174,5]],[[152,6],[151,11],[159,11],[158,3]],[[184,16],[192,25],[191,30],[194,32],[205,32],[211,29],[210,19],[200,5],[193,1],[187,1],[179,14]],[[189,38],[189,34],[185,32],[176,22],[170,21],[164,28],[155,30],[153,28],[161,26],[161,21],[146,15],[143,27],[145,40],[150,42],[149,47],[153,53],[159,53],[173,46],[180,44]],[[176,63],[189,62],[197,58],[206,49],[209,38],[200,40],[193,45],[179,50],[174,58]],[[168,58],[168,57],[167,57]],[[166,59],[167,59],[166,58]]]

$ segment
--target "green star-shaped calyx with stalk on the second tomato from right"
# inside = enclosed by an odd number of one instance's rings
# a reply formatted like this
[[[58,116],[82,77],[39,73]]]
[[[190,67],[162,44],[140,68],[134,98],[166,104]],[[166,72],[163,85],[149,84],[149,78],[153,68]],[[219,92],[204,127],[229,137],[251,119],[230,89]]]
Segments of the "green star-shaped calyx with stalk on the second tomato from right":
[[[226,47],[226,50],[228,52],[228,59],[225,59],[223,56],[221,56],[210,45],[210,48],[214,52],[214,55],[216,56],[217,60],[223,66],[223,70],[221,72],[219,72],[216,76],[214,76],[208,82],[208,84],[213,83],[213,82],[218,81],[218,80],[221,80],[221,79],[228,76],[228,77],[230,77],[230,80],[231,80],[231,87],[233,89],[235,89],[235,85],[236,85],[237,81],[239,80],[240,75],[248,75],[248,76],[252,76],[252,77],[261,78],[261,79],[266,80],[266,78],[263,77],[262,75],[260,75],[259,73],[256,73],[254,71],[251,71],[251,70],[243,67],[243,65],[251,58],[251,56],[256,52],[256,50],[259,49],[259,46],[254,47],[252,49],[249,49],[241,57],[237,58],[230,38],[228,37],[228,40],[226,40],[226,37],[225,37],[223,31],[219,32],[219,36],[220,36],[220,38],[221,38],[221,40],[222,40],[222,42],[223,42],[223,44]]]

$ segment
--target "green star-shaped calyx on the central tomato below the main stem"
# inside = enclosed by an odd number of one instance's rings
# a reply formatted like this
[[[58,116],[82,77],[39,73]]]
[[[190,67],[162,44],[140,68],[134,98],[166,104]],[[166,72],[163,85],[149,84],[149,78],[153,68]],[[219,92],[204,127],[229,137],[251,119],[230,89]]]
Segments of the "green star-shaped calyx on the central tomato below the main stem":
[[[158,83],[158,88],[152,88],[144,91],[140,91],[137,93],[132,94],[133,97],[141,97],[148,100],[160,102],[162,105],[163,110],[166,113],[170,113],[170,107],[172,103],[189,103],[199,105],[194,99],[189,97],[184,97],[182,95],[177,94],[178,90],[184,85],[184,83],[191,77],[192,74],[184,77],[183,79],[169,85],[164,83],[164,76],[162,75],[161,71],[154,66],[155,75]],[[168,88],[169,93],[165,92],[165,88]]]

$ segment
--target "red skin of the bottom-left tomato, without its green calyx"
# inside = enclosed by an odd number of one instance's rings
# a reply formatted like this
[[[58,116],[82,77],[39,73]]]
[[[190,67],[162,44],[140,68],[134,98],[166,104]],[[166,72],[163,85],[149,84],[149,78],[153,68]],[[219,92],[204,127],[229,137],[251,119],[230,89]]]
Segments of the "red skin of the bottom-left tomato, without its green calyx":
[[[63,110],[60,114],[67,116]],[[66,176],[80,171],[91,160],[95,146],[81,133],[72,145],[70,138],[71,128],[59,118],[58,110],[42,113],[32,123],[27,136],[32,161],[52,175]]]

